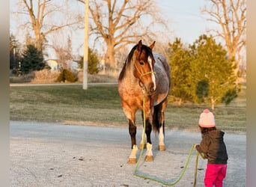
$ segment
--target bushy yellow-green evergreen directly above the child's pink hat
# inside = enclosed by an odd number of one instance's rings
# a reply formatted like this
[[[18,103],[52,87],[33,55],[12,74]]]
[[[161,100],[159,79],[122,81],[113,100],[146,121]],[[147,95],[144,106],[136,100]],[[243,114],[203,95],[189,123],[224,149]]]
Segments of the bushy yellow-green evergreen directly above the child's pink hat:
[[[211,36],[201,35],[190,48],[193,58],[189,79],[194,101],[207,102],[212,109],[220,102],[231,102],[239,91],[233,59],[227,58],[225,49]]]

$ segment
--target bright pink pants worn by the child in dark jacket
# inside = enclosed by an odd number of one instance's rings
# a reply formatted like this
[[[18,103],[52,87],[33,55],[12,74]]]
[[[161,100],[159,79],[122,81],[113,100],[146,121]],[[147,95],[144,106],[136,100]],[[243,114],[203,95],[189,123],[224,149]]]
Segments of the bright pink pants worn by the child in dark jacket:
[[[205,187],[222,187],[222,180],[226,177],[227,165],[207,164],[207,170],[204,177]]]

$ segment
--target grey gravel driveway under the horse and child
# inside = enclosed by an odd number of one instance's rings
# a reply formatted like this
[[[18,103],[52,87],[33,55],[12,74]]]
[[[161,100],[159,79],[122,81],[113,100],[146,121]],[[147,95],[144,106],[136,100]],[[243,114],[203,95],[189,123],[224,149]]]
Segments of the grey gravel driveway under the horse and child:
[[[137,141],[141,128],[137,130]],[[152,135],[153,162],[141,161],[138,171],[157,179],[176,180],[189,150],[201,141],[200,132],[166,129],[166,150],[157,150]],[[246,186],[246,133],[225,133],[228,171],[224,186]],[[10,121],[11,186],[163,186],[135,177],[128,165],[130,138],[127,128],[73,126],[61,123]],[[139,154],[139,152],[138,152]],[[197,186],[204,186],[207,161],[198,160]],[[195,151],[175,186],[193,186]]]

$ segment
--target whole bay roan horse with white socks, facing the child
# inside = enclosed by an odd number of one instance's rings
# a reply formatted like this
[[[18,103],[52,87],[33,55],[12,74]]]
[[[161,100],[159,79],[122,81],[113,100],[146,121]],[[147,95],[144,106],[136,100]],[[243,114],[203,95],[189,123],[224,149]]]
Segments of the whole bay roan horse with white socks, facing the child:
[[[121,105],[129,123],[129,135],[132,142],[132,153],[128,160],[129,164],[136,163],[138,147],[135,137],[135,113],[141,110],[143,119],[143,96],[145,100],[145,134],[147,137],[145,160],[153,161],[150,140],[152,129],[156,132],[156,135],[159,135],[159,150],[165,150],[164,111],[171,86],[171,72],[165,57],[152,52],[154,45],[155,42],[150,46],[145,46],[140,40],[138,44],[133,46],[118,78]]]

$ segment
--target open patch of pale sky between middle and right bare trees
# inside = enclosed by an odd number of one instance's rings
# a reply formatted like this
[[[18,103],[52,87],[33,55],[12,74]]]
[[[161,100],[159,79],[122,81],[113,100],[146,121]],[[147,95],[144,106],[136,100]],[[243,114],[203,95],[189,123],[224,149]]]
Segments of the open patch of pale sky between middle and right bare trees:
[[[174,37],[183,43],[193,43],[212,24],[202,16],[204,0],[161,0],[159,7],[171,22]]]

